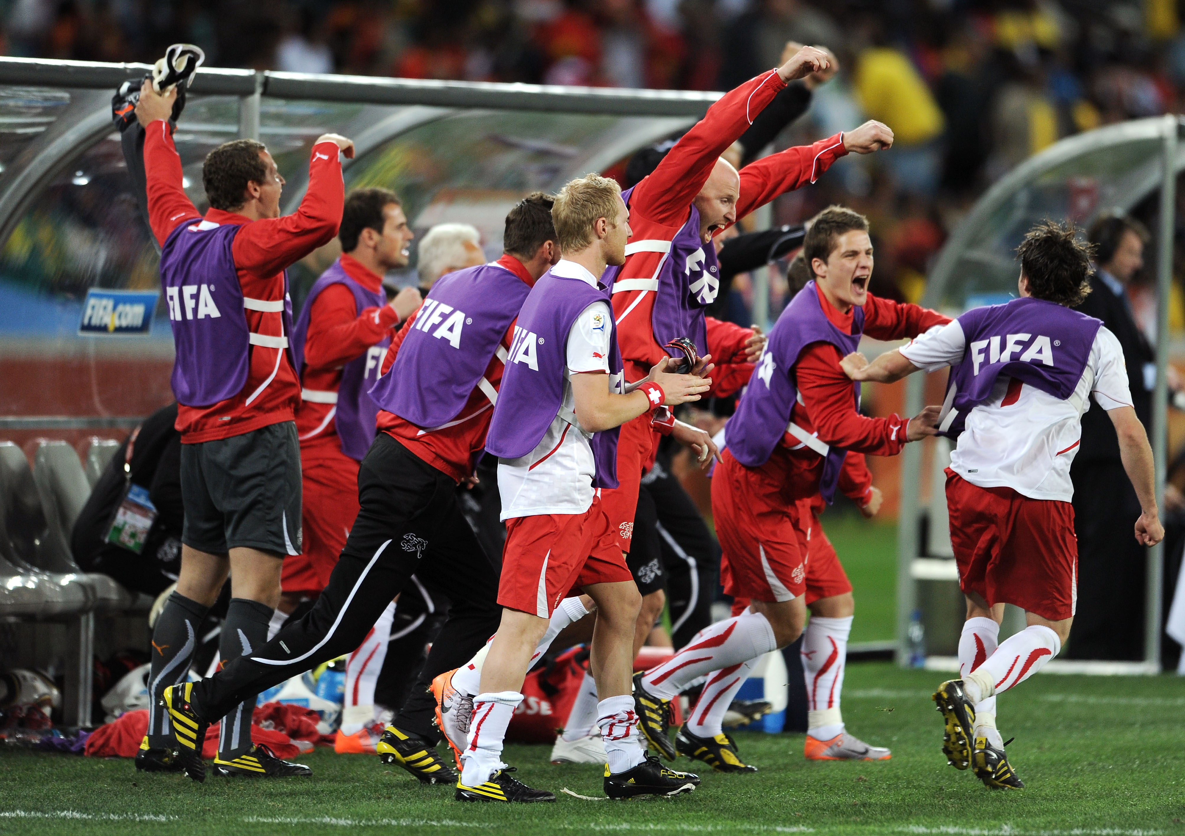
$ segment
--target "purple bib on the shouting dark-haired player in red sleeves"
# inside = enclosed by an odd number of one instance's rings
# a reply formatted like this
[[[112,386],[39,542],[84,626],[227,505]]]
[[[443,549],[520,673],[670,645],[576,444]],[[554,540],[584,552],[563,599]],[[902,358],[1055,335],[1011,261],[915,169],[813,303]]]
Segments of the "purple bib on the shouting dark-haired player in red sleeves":
[[[863,333],[863,308],[853,308],[852,333],[845,334],[824,313],[815,283],[807,282],[770,329],[766,351],[757,361],[736,414],[729,419],[726,438],[732,457],[747,468],[760,468],[769,461],[783,435],[794,433],[796,427],[790,427],[790,412],[799,394],[794,364],[803,348],[812,342],[828,342],[841,355],[847,355],[860,345]],[[859,409],[860,385],[853,384],[852,390],[853,403]],[[839,471],[847,451],[828,446],[814,437],[796,437],[827,459],[819,493],[830,503],[835,497]]]

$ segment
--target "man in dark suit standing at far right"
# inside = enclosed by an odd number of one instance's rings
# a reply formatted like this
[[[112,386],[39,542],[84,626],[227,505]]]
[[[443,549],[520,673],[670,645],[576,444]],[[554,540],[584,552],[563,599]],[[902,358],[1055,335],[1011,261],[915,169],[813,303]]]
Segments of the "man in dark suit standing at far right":
[[[1155,356],[1128,304],[1126,288],[1144,266],[1148,231],[1123,214],[1103,214],[1089,232],[1095,246],[1090,295],[1077,310],[1095,316],[1119,337],[1135,414],[1152,432]],[[1123,476],[1119,442],[1107,413],[1090,406],[1082,417],[1082,444],[1070,468],[1078,536],[1078,606],[1069,658],[1144,658],[1146,549],[1135,541],[1140,516],[1135,491]]]

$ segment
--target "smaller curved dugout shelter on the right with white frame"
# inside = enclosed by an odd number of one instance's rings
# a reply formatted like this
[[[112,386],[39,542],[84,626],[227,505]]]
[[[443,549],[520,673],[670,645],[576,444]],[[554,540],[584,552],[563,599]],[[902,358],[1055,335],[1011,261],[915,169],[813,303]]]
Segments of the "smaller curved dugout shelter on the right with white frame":
[[[1172,351],[1168,300],[1177,229],[1176,187],[1178,175],[1185,169],[1181,127],[1177,116],[1121,122],[1070,136],[1026,160],[975,202],[939,253],[922,298],[925,307],[952,316],[981,304],[1005,302],[1016,295],[1019,274],[1016,247],[1033,224],[1046,218],[1069,219],[1085,230],[1103,212],[1129,212],[1154,201],[1157,220],[1151,226],[1153,242],[1145,252],[1145,263],[1155,275],[1157,285],[1157,380],[1148,438],[1157,461],[1160,508],[1164,508],[1167,461],[1166,367]],[[944,371],[910,377],[905,397],[908,414],[916,414],[924,403],[941,403],[946,378]],[[914,613],[920,612],[930,652],[928,667],[956,670],[957,662],[952,657],[963,619],[963,603],[950,551],[943,491],[942,469],[949,462],[949,442],[940,438],[910,444],[902,455],[897,658],[901,664],[910,663],[910,628]],[[923,502],[927,483],[929,501]],[[1142,661],[1055,660],[1046,670],[1159,673],[1164,562],[1164,544],[1149,549]],[[1001,641],[1024,629],[1020,612],[1012,606],[1007,610]]]

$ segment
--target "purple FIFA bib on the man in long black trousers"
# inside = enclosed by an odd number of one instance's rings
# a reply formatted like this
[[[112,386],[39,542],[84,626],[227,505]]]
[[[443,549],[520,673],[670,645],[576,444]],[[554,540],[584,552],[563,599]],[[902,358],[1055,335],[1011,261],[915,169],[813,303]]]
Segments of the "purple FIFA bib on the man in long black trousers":
[[[499,264],[442,276],[405,326],[411,330],[371,397],[380,409],[421,429],[456,418],[483,381],[482,391],[491,403],[497,400],[483,375],[530,290]]]

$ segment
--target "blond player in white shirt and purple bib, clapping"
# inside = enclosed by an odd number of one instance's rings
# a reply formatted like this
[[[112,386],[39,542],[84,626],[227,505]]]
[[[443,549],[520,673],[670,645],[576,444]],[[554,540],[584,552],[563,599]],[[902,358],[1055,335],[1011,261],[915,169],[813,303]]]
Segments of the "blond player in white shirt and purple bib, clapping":
[[[688,792],[699,779],[647,758],[630,696],[641,604],[598,489],[616,485],[617,427],[661,405],[698,400],[711,381],[671,374],[662,360],[626,393],[613,311],[600,277],[626,258],[628,211],[616,182],[597,174],[559,192],[552,220],[562,261],[531,289],[515,326],[486,449],[501,461],[506,520],[498,603],[502,619],[481,671],[456,798],[552,802],[501,763],[502,739],[552,610],[574,586],[597,606],[590,665],[600,697],[606,793]]]

